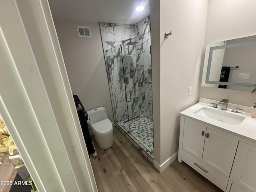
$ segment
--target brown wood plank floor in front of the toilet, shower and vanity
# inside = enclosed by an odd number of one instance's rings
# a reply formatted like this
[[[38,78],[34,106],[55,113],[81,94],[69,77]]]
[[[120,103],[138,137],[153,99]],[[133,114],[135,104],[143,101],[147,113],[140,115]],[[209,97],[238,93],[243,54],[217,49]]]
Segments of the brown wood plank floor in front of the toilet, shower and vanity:
[[[101,149],[94,137],[98,160],[91,158],[99,192],[223,192],[184,162],[175,160],[163,172],[114,128],[114,144]]]

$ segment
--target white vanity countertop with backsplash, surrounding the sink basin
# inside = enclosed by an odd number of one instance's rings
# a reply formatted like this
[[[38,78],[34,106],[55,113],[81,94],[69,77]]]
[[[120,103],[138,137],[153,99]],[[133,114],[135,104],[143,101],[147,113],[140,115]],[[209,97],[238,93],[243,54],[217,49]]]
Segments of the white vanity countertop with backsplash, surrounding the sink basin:
[[[216,101],[216,100],[200,98],[199,103],[180,112],[180,114],[191,117],[191,118],[195,118],[196,120],[200,120],[202,122],[206,122],[206,123],[214,125],[214,126],[217,126],[219,128],[222,128],[223,130],[227,130],[228,132],[238,134],[239,136],[244,136],[244,137],[252,139],[254,142],[256,142],[256,118],[251,117],[250,107],[228,103],[227,110],[221,110],[221,107],[219,107],[219,106],[218,106],[218,108],[213,108],[212,104],[210,104],[210,102],[218,103],[218,101]],[[242,123],[240,125],[230,125],[230,124],[220,122],[218,120],[214,120],[214,119],[194,113],[202,107],[210,108],[210,109],[214,109],[214,110],[221,110],[226,113],[244,116],[245,119],[242,121]],[[241,108],[243,110],[241,112],[239,111],[237,113],[231,112],[232,108],[234,108],[234,107]]]

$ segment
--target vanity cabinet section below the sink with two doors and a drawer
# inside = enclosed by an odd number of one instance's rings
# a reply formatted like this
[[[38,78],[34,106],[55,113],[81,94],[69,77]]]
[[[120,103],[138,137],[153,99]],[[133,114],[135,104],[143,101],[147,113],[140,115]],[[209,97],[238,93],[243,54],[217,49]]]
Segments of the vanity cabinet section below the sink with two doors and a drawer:
[[[178,160],[186,162],[224,191],[228,188],[238,143],[232,134],[181,117]]]

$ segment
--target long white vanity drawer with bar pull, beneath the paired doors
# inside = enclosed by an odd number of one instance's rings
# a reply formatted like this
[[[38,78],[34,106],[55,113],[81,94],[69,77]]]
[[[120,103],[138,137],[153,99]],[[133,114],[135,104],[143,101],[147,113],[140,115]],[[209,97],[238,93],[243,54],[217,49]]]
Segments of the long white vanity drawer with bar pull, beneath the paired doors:
[[[200,160],[194,158],[192,155],[188,154],[184,150],[182,150],[182,160],[186,162],[189,166],[194,168],[194,170],[208,178],[218,187],[222,188],[222,190],[226,190],[228,185],[228,179],[216,172],[214,169],[210,168]]]

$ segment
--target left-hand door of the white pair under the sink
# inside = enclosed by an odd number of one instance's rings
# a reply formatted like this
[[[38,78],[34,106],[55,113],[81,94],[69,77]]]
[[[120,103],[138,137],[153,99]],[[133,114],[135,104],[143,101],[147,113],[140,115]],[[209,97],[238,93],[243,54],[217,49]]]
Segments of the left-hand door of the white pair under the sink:
[[[185,119],[182,148],[202,160],[205,133],[206,126]]]

